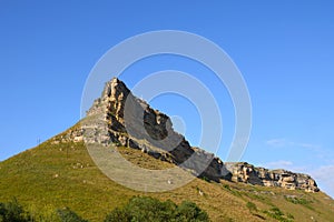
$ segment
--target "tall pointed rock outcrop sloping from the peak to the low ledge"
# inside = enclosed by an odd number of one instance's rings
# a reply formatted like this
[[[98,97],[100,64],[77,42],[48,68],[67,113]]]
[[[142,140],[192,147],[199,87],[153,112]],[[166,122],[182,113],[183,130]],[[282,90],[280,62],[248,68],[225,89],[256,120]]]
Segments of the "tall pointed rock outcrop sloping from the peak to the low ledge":
[[[132,95],[116,78],[106,83],[101,97],[95,100],[82,129],[86,143],[139,149],[217,182],[226,172],[223,161],[193,148],[184,135],[174,131],[168,115]]]

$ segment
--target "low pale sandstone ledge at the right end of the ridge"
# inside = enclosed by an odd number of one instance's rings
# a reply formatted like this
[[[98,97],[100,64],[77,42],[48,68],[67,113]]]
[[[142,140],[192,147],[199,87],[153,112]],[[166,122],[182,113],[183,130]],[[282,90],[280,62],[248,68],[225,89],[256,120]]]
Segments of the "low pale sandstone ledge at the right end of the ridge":
[[[316,182],[306,174],[293,173],[286,170],[267,170],[255,168],[246,162],[225,163],[232,173],[232,181],[258,184],[265,186],[282,186],[288,190],[305,190],[317,192],[320,189]]]

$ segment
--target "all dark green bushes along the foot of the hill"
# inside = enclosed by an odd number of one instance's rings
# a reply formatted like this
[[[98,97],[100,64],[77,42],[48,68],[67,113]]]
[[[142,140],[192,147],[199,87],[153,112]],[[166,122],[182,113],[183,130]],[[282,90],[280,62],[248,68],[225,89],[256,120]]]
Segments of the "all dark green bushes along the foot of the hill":
[[[68,208],[53,212],[55,222],[88,222]],[[32,215],[13,199],[10,202],[0,202],[0,222],[42,222],[50,218],[42,214]],[[184,201],[179,205],[171,201],[159,201],[150,196],[134,196],[122,208],[114,209],[106,215],[105,222],[208,222],[205,211],[195,203]]]

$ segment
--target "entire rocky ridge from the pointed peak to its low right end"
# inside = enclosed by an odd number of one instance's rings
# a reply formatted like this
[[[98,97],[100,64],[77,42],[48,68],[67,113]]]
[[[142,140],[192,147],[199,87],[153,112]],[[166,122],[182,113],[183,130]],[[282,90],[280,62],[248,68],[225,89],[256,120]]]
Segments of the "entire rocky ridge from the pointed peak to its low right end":
[[[86,143],[129,147],[189,170],[197,176],[219,182],[220,179],[285,189],[317,192],[315,181],[306,174],[285,170],[255,168],[248,163],[223,163],[219,158],[189,142],[173,129],[168,115],[154,110],[132,95],[124,82],[114,78],[101,97],[95,100],[82,121],[80,132]],[[204,171],[202,169],[205,169]]]

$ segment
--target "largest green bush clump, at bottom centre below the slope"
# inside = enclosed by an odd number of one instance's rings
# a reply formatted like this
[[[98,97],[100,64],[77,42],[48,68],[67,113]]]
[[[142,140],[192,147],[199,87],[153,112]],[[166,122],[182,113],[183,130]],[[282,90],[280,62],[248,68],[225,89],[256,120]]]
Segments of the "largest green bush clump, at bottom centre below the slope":
[[[205,211],[195,203],[185,201],[177,206],[171,201],[161,202],[154,198],[132,198],[122,209],[111,211],[105,222],[206,222]]]

